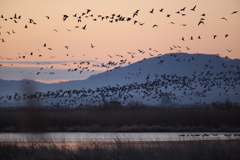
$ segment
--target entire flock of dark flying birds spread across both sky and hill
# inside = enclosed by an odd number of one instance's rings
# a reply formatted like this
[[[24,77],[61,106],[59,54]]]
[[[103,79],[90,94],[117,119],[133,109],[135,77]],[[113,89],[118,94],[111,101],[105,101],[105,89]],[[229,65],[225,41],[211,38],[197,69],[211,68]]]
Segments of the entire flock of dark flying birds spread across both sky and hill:
[[[197,6],[194,6],[193,8],[189,9],[190,11],[195,11]],[[162,13],[164,12],[164,8],[161,8],[160,10],[156,10],[155,8],[151,9],[149,11],[150,14],[155,14],[155,13]],[[107,20],[110,23],[117,23],[117,22],[133,22],[134,25],[139,24],[140,26],[145,25],[145,23],[140,22],[138,20],[136,20],[135,18],[138,17],[140,13],[140,10],[136,10],[132,16],[122,16],[120,14],[111,14],[111,15],[107,15],[107,16],[103,16],[103,15],[93,15],[91,14],[91,10],[87,9],[86,12],[78,15],[77,13],[69,16],[69,15],[63,15],[62,16],[62,20],[65,22],[67,21],[69,18],[74,17],[76,18],[77,23],[82,23],[82,21],[84,21],[84,18],[92,18],[93,21],[103,21],[103,20]],[[233,11],[230,15],[236,14],[238,13],[238,11]],[[175,12],[175,14],[180,14],[181,16],[186,16],[186,7],[181,8],[179,11]],[[200,25],[204,25],[205,24],[205,16],[206,14],[203,13],[200,15],[200,20],[198,22],[198,26]],[[51,17],[50,16],[45,16],[47,20],[50,20]],[[166,15],[167,18],[171,17],[171,14],[167,14]],[[13,21],[14,23],[18,23],[18,21],[20,21],[22,19],[21,15],[17,15],[15,14],[13,17],[10,18],[6,18],[3,15],[1,15],[0,17],[1,19],[3,19],[4,21]],[[228,21],[227,18],[222,17],[220,18],[220,20],[225,20]],[[29,28],[30,25],[37,25],[37,22],[35,20],[33,20],[32,18],[29,19],[29,24],[26,24],[24,26],[24,28]],[[175,24],[174,22],[170,22],[170,24]],[[187,24],[181,24],[182,26],[186,26]],[[157,24],[153,24],[152,28],[158,27]],[[1,29],[2,27],[0,27]],[[87,30],[87,24],[83,25],[82,27],[80,27],[79,25],[75,26],[75,29],[77,28],[82,28],[83,30]],[[67,29],[68,31],[71,31],[70,29]],[[57,29],[53,29],[54,32],[58,32]],[[16,34],[17,32],[15,31],[7,31],[6,34],[11,35],[11,34]],[[3,35],[4,33],[0,32],[0,36]],[[219,37],[224,37],[227,38],[229,35],[228,34],[224,34],[224,35],[220,35]],[[216,39],[218,37],[218,35],[213,35],[213,39]],[[201,36],[198,36],[197,39],[202,39]],[[7,42],[6,38],[1,38],[0,39],[1,42]],[[182,41],[186,41],[185,37],[181,38]],[[189,40],[194,40],[194,37],[191,36],[189,38]],[[52,51],[54,50],[54,48],[52,48],[51,46],[49,46],[48,44],[44,43],[42,45],[43,48],[47,48],[48,50]],[[96,46],[93,44],[90,44],[89,46],[90,48],[95,48]],[[69,46],[64,46],[63,48],[68,49]],[[178,52],[181,52],[181,49],[186,48],[187,50],[190,50],[190,48],[188,46],[179,46],[179,45],[173,45],[170,46],[170,50],[176,50]],[[227,49],[228,52],[231,52],[232,50]],[[148,54],[147,54],[148,52]],[[126,66],[128,64],[131,64],[131,61],[129,60],[129,58],[135,58],[137,55],[141,54],[145,54],[147,55],[146,58],[143,58],[142,61],[140,61],[140,63],[142,63],[144,60],[146,60],[147,58],[150,57],[158,57],[158,59],[160,59],[158,61],[158,64],[161,65],[164,63],[164,60],[161,59],[161,54],[158,53],[158,50],[156,49],[152,49],[149,48],[147,51],[146,50],[142,50],[142,49],[138,49],[137,51],[134,52],[127,52],[128,55],[130,55],[130,57],[126,57],[123,55],[109,55],[108,57],[110,59],[112,59],[113,57],[119,58],[118,62],[109,60],[107,63],[94,63],[92,61],[80,61],[80,62],[73,62],[73,65],[75,65],[75,67],[67,69],[68,72],[74,72],[74,71],[79,71],[79,73],[81,74],[83,71],[92,71],[94,72],[95,70],[92,69],[94,67],[102,67],[102,68],[106,68],[107,71],[112,71],[112,69],[118,69],[122,66]],[[42,57],[45,56],[43,54],[39,54],[39,55],[35,55],[35,53],[31,52],[31,53],[25,53],[24,55],[21,55],[21,53],[18,54],[18,57],[16,57],[16,59],[27,59],[28,56],[36,56],[36,57]],[[66,56],[70,56],[69,54],[66,54]],[[181,61],[185,61],[184,60],[180,60],[179,58],[177,58],[176,54],[171,55],[173,58],[176,58],[175,62],[181,62]],[[72,55],[73,57],[73,55]],[[217,56],[218,57],[218,56]],[[13,60],[13,58],[5,58],[5,57],[0,57],[2,60]],[[51,56],[50,58],[55,58],[54,56]],[[226,58],[228,58],[226,56]],[[97,57],[95,59],[98,59]],[[190,62],[193,61],[194,58],[190,58],[190,59],[186,59],[186,61]],[[210,60],[209,60],[210,63]],[[37,65],[40,65],[39,68],[39,72],[36,73],[36,75],[40,75],[42,73],[47,73],[50,75],[54,75],[54,72],[43,72],[43,70],[45,68],[54,68],[54,65],[52,65],[50,67],[50,63],[44,62],[44,63],[38,63]],[[63,66],[69,66],[69,64],[62,64]],[[3,66],[3,64],[0,64],[0,67]],[[205,68],[211,69],[210,64],[206,64]],[[224,65],[224,63],[222,64],[223,68],[226,68],[227,66]],[[202,72],[199,75],[196,75],[196,72],[193,73],[193,77],[189,78],[186,76],[178,76],[178,75],[167,75],[167,74],[163,74],[163,75],[154,75],[155,79],[150,81],[149,77],[150,75],[148,75],[146,77],[146,82],[145,83],[131,83],[131,84],[126,84],[123,86],[120,85],[116,85],[116,86],[105,86],[105,87],[100,87],[100,88],[96,88],[96,89],[85,89],[82,88],[80,90],[68,90],[68,91],[63,91],[63,90],[58,90],[58,91],[48,91],[46,93],[43,92],[36,92],[35,94],[31,94],[31,95],[27,95],[27,94],[23,94],[20,95],[18,93],[15,93],[14,96],[11,95],[7,95],[7,96],[2,96],[0,97],[0,102],[3,101],[5,103],[7,103],[7,101],[10,100],[15,100],[17,102],[19,101],[24,101],[24,100],[32,100],[35,99],[37,101],[39,100],[45,100],[45,104],[47,105],[54,105],[54,106],[77,106],[77,105],[85,105],[85,104],[100,104],[101,102],[104,101],[121,101],[123,104],[126,104],[128,102],[129,99],[134,97],[134,94],[139,94],[142,96],[142,98],[147,98],[148,101],[150,101],[151,99],[156,99],[157,101],[160,101],[161,98],[163,97],[168,97],[171,100],[174,101],[179,101],[181,102],[181,99],[177,98],[176,94],[174,93],[175,90],[178,91],[183,91],[182,93],[182,97],[187,97],[187,96],[197,96],[197,97],[205,97],[205,93],[208,91],[211,91],[212,88],[214,87],[218,87],[218,88],[224,88],[225,93],[221,93],[221,94],[226,94],[229,90],[234,90],[235,89],[235,85],[240,85],[240,79],[237,78],[240,76],[240,69],[239,66],[231,66],[231,68],[235,68],[237,69],[237,71],[223,71],[220,73],[211,73],[211,71],[207,71],[207,72]],[[23,71],[22,71],[23,72]],[[109,73],[106,72],[106,75],[108,75]],[[128,75],[125,77],[125,79],[130,79],[129,76],[130,73],[128,73]],[[132,73],[133,75],[134,73]],[[141,68],[135,73],[137,76],[139,76],[141,74]],[[215,76],[214,80],[212,80],[212,76]],[[229,78],[231,77],[231,78]],[[26,84],[29,84],[29,82],[26,82]],[[194,91],[194,89],[196,89],[197,87],[201,86],[203,88],[202,91]],[[161,88],[172,88],[172,91],[163,91],[161,90]],[[191,91],[191,92],[187,92]],[[238,92],[235,91],[235,94],[237,95]],[[55,100],[53,100],[55,99]],[[190,97],[191,99],[191,97]],[[84,102],[85,101],[85,102]],[[80,103],[82,102],[82,103]],[[195,104],[205,104],[205,102],[203,102],[202,100],[200,101],[195,101]]]

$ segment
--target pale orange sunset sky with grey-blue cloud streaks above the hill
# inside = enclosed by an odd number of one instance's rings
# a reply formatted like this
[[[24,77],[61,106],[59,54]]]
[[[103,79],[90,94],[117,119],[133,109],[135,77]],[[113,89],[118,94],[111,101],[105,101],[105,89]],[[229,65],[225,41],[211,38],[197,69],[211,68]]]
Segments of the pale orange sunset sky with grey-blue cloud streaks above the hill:
[[[127,59],[125,66],[176,52],[240,59],[240,12],[234,11],[239,0],[0,0],[0,79],[86,79],[106,71],[97,67],[102,63]],[[118,15],[124,21],[116,22]]]

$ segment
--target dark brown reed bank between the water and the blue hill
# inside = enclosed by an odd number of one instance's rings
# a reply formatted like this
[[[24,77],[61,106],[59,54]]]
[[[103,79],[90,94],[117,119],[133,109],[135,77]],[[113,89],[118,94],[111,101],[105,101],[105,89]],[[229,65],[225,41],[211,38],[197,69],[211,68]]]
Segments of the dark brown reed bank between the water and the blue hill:
[[[132,103],[133,104],[133,103]],[[207,132],[240,131],[240,107],[209,106],[2,107],[1,132]]]

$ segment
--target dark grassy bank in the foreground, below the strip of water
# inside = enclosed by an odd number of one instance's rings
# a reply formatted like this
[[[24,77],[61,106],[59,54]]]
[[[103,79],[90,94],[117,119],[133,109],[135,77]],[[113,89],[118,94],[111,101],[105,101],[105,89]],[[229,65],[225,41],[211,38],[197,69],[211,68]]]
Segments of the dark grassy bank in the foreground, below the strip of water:
[[[74,148],[56,144],[0,142],[0,159],[138,159],[138,160],[239,160],[240,140],[170,142],[79,142]]]

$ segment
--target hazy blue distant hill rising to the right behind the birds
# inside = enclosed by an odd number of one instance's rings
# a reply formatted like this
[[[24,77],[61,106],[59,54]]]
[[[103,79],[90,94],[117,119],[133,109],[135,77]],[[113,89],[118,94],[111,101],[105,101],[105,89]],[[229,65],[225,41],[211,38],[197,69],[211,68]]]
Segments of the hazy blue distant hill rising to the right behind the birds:
[[[26,92],[23,86],[28,85],[28,82],[36,91],[44,93],[81,90],[78,95],[70,94],[68,100],[64,96],[58,98],[55,96],[54,100],[51,98],[51,103],[58,105],[97,104],[102,103],[102,99],[124,101],[125,104],[134,100],[156,105],[163,102],[163,97],[169,97],[171,103],[178,104],[211,103],[224,101],[226,98],[230,98],[233,102],[240,102],[238,98],[240,60],[217,55],[169,53],[92,75],[86,80],[55,84],[43,84],[30,80],[22,82],[0,80],[0,96],[4,96],[1,104],[4,104],[6,95]],[[105,91],[101,90],[102,87],[105,87]],[[112,91],[113,89],[121,90],[116,92]],[[84,93],[85,96],[79,96],[83,91],[88,91],[88,96],[86,96],[87,93]],[[112,95],[113,93],[118,95]],[[58,92],[57,95],[60,93]],[[69,102],[71,98],[73,101]],[[69,103],[63,103],[63,99]],[[42,105],[49,104],[49,100],[45,104],[46,98],[42,97],[42,100]]]

